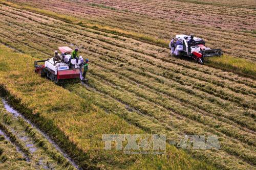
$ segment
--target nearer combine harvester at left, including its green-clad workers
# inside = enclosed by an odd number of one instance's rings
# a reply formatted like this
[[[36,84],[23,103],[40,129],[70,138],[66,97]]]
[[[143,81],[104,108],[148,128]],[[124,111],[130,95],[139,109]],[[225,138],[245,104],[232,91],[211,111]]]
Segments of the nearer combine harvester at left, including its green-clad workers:
[[[68,46],[58,48],[61,56],[55,51],[55,56],[51,59],[35,61],[35,72],[41,76],[47,76],[55,83],[65,79],[84,80],[88,70],[89,60],[83,61],[82,56],[77,55],[78,49],[74,51]],[[44,62],[44,65],[38,65]]]

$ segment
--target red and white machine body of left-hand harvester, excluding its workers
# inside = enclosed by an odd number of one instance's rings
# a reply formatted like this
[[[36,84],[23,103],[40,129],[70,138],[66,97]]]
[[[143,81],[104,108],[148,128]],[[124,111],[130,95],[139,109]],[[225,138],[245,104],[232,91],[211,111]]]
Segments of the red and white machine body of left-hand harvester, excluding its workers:
[[[62,46],[58,49],[61,53],[62,61],[55,62],[55,64],[53,58],[35,61],[35,72],[41,76],[47,76],[55,83],[60,83],[61,80],[80,78],[81,58],[78,59],[78,62],[76,62],[76,59],[71,59],[69,63],[72,49],[68,46]],[[39,62],[44,62],[44,65],[38,65]]]

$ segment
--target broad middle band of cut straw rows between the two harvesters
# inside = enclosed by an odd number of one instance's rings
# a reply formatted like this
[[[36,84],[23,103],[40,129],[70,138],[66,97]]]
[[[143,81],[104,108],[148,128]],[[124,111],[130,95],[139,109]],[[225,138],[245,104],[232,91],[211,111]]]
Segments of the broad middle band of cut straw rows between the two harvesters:
[[[82,1],[80,3],[82,4]],[[127,3],[131,4],[132,1],[122,3],[126,4],[123,6],[125,8],[128,7]],[[115,1],[105,4],[117,9],[120,6],[116,5]],[[159,8],[153,8],[153,1],[149,4],[147,14],[161,17],[161,12],[165,9],[159,6],[162,11],[156,14],[154,10],[159,11]],[[173,2],[172,6],[176,4],[179,2]],[[255,27],[255,10],[244,10],[251,12],[250,18],[247,18],[250,30]],[[137,17],[141,15],[137,14],[140,9],[131,11],[136,13]],[[82,15],[86,16],[84,13]],[[111,14],[98,12],[98,15],[102,17],[101,15]],[[181,18],[184,15],[181,14]],[[220,17],[215,12],[211,15]],[[72,25],[3,4],[0,5],[0,17],[0,42],[37,59],[52,57],[58,46],[80,48],[80,54],[90,60],[88,85],[84,87],[77,83],[63,86],[64,88],[79,94],[85,100],[88,96],[95,98],[96,105],[132,124],[138,120],[146,121],[147,126],[139,125],[141,129],[152,133],[164,133],[168,141],[178,141],[185,134],[217,135],[221,150],[188,152],[224,169],[255,168],[255,80],[170,57],[166,48]],[[193,16],[188,19],[193,20]],[[207,19],[205,16],[200,23],[205,25]],[[105,21],[110,22],[108,18]],[[150,20],[141,21],[141,25],[145,22]],[[232,18],[230,24],[216,23],[215,26],[229,29],[236,25],[236,29],[241,29],[237,22]],[[125,27],[125,24],[123,26]],[[161,23],[157,26],[159,30],[167,27],[159,26]],[[161,34],[159,30],[156,30],[155,34]],[[255,61],[255,41],[248,38],[251,33],[219,30],[215,32],[222,38],[217,43],[217,39],[209,37],[209,44],[220,46],[228,41],[226,53],[236,56],[243,54],[243,57]],[[234,36],[226,40],[227,36],[233,34],[242,42],[238,42]],[[214,36],[212,33],[212,37]],[[240,49],[240,43],[250,43],[251,51]],[[236,52],[233,52],[234,50]]]

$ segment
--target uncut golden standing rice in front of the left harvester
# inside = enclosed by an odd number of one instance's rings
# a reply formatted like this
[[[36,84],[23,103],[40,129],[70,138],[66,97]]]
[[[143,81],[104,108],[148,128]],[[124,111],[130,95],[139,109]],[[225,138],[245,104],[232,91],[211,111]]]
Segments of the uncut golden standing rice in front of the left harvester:
[[[12,56],[17,56],[12,57]],[[49,145],[46,139],[42,139],[36,130],[28,125],[30,120],[39,129],[44,131],[54,140],[62,151],[69,155],[75,162],[75,169],[216,169],[204,160],[191,157],[185,151],[177,149],[166,143],[164,154],[138,155],[124,154],[119,150],[105,150],[102,134],[148,134],[148,131],[125,122],[122,117],[106,112],[95,105],[95,98],[91,91],[84,100],[80,95],[74,94],[68,89],[56,86],[53,82],[40,78],[34,74],[33,67],[24,67],[27,62],[33,63],[35,58],[15,53],[8,47],[0,45],[1,70],[0,89],[1,95],[14,109],[22,113],[22,117],[15,118],[1,106],[1,124],[6,134],[11,136],[12,142],[20,148],[28,158],[27,164],[33,169],[72,169],[72,166]],[[14,68],[11,69],[10,68]],[[72,85],[72,83],[70,84]],[[54,87],[54,88],[53,88]],[[73,86],[75,87],[75,86]],[[52,97],[49,98],[49,95]],[[65,98],[63,99],[63,96]],[[84,96],[83,96],[84,97]],[[110,105],[111,107],[112,105]],[[136,115],[135,115],[136,116]],[[143,117],[133,117],[136,125],[158,127],[157,124],[148,122]],[[148,124],[150,123],[150,124]],[[148,125],[147,125],[148,124]],[[1,132],[1,131],[0,131]],[[30,136],[30,137],[29,137]],[[32,139],[36,146],[44,149],[44,152],[30,152],[27,144],[20,139]],[[32,145],[32,148],[35,145]],[[113,143],[115,147],[115,143]],[[37,149],[37,148],[36,148]],[[54,158],[54,162],[47,161],[42,156]],[[42,163],[47,163],[46,167]],[[7,169],[15,169],[19,162],[6,166]],[[26,162],[25,162],[26,163]],[[38,164],[39,163],[39,164]],[[73,165],[74,163],[72,163]],[[26,166],[24,166],[26,167]],[[20,166],[23,168],[23,166]]]

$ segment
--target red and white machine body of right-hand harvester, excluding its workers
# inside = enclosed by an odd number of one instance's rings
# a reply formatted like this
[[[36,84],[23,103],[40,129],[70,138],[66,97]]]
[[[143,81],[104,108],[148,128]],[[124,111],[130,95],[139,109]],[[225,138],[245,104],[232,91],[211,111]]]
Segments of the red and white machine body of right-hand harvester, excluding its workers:
[[[205,46],[205,41],[201,38],[194,37],[195,43],[188,44],[191,36],[188,35],[176,35],[177,39],[182,40],[183,50],[180,51],[181,56],[191,57],[198,61],[199,63],[203,63],[205,57],[214,57],[214,56],[222,56],[221,49],[210,49]]]

